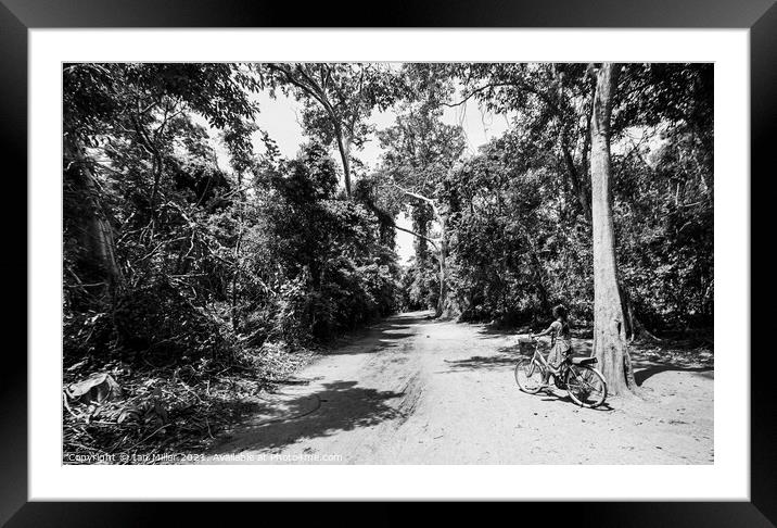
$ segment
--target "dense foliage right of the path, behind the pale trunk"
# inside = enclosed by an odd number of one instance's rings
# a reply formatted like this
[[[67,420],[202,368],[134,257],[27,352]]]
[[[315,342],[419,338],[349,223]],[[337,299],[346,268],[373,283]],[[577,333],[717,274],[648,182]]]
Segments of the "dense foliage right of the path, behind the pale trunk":
[[[444,177],[430,184],[426,171],[415,175],[444,221],[443,232],[433,215],[413,215],[419,232],[436,228],[448,243],[445,311],[510,322],[545,318],[563,302],[578,323],[590,323],[593,87],[585,66],[407,70],[437,105],[474,98],[511,116],[504,136],[459,159]],[[712,65],[704,64],[626,65],[616,91],[616,255],[635,335],[712,324]],[[395,164],[391,151],[386,164]],[[405,279],[409,301],[434,306],[436,263],[418,254]]]

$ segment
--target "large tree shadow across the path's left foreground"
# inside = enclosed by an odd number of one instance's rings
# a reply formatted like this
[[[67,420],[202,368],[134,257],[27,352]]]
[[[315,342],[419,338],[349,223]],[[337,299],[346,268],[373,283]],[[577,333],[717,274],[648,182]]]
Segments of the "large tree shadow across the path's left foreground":
[[[278,403],[279,416],[247,423],[244,427],[214,445],[212,454],[280,449],[297,440],[328,437],[341,431],[378,425],[402,418],[404,413],[389,405],[403,392],[378,391],[358,387],[356,381],[324,384],[322,390]],[[257,404],[256,410],[267,411]],[[244,413],[245,408],[241,408]],[[266,414],[265,414],[266,415]]]

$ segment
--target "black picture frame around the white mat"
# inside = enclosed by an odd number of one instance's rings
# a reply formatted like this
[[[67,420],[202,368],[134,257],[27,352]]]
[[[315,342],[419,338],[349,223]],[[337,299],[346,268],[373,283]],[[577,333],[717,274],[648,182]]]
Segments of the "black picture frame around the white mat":
[[[358,14],[345,18],[344,13]],[[0,0],[0,149],[4,152],[3,190],[7,203],[26,203],[27,197],[27,42],[29,28],[103,27],[684,27],[750,28],[751,75],[751,176],[750,185],[774,179],[770,150],[775,144],[777,104],[777,5],[774,0],[500,0],[444,1],[377,4],[342,1],[336,9],[319,2],[302,8],[295,2],[267,0]],[[55,155],[55,154],[52,154]],[[10,163],[9,163],[10,162]],[[12,180],[12,181],[11,181]],[[17,188],[12,189],[13,186]],[[752,192],[751,197],[767,194]],[[27,274],[27,234],[18,228],[25,212],[11,213],[3,228],[7,248],[14,248],[13,262],[3,262],[5,277]],[[759,209],[755,203],[751,211]],[[764,222],[768,225],[768,204]],[[24,216],[22,216],[24,215]],[[752,216],[751,216],[752,218]],[[752,219],[751,219],[752,222]],[[774,222],[774,221],[772,221]],[[752,222],[753,227],[759,223]],[[13,231],[13,232],[5,232]],[[751,240],[769,240],[768,235]],[[756,244],[757,247],[759,244]],[[755,263],[756,261],[751,261]],[[13,275],[11,275],[13,274]],[[15,280],[16,282],[21,282]],[[7,290],[8,291],[8,290]],[[8,328],[27,323],[27,301],[13,302]],[[725,310],[725,306],[717,306]],[[767,311],[766,311],[767,313]],[[765,326],[765,313],[752,310],[751,327]],[[768,330],[767,330],[768,331]],[[8,334],[8,332],[7,332]],[[21,334],[21,332],[20,332]],[[7,336],[8,337],[8,336]],[[742,336],[749,343],[748,336]],[[224,525],[245,515],[255,504],[234,504],[228,508],[213,504],[184,503],[55,503],[27,502],[27,360],[24,343],[11,347],[7,341],[0,363],[0,525],[20,526],[145,526],[164,521],[174,513],[176,524],[208,523]],[[24,345],[23,345],[24,344]],[[752,347],[755,350],[755,347]],[[539,513],[539,519],[569,520],[581,526],[775,526],[777,525],[777,413],[774,411],[774,381],[770,376],[775,351],[765,348],[751,354],[751,502],[635,502],[527,503],[480,508],[479,524],[513,516]],[[260,506],[265,507],[265,506]],[[509,510],[508,510],[509,508]],[[458,505],[446,508],[463,520]],[[175,512],[174,512],[175,511]],[[534,512],[532,512],[534,511]],[[343,519],[343,506],[317,504],[313,508],[293,508],[294,520],[310,518]],[[305,513],[307,512],[307,513]],[[548,513],[552,512],[552,513]],[[282,512],[281,512],[282,513]],[[302,517],[300,516],[302,515]],[[365,521],[369,515],[372,521]],[[346,515],[349,517],[351,515]],[[359,517],[361,517],[359,521]],[[251,519],[252,517],[247,517]],[[369,513],[354,515],[357,524],[403,523],[387,504],[372,506]],[[255,523],[252,523],[255,524]],[[295,523],[296,524],[296,523]]]

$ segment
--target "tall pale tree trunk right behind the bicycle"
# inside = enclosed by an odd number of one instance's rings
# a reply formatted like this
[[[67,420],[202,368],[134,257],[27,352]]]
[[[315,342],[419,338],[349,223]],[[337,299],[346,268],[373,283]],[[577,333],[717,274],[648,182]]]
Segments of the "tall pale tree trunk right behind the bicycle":
[[[591,120],[591,205],[594,227],[594,355],[612,394],[634,389],[626,325],[617,281],[612,219],[610,114],[620,66],[604,63],[596,73]]]

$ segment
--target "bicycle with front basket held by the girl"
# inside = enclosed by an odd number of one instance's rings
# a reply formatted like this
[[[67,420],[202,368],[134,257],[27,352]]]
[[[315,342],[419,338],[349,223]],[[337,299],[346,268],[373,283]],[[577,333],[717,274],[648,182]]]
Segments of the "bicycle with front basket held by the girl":
[[[515,365],[515,382],[523,392],[536,394],[543,390],[543,379],[549,372],[556,388],[566,390],[577,405],[594,408],[604,403],[607,381],[599,370],[590,366],[597,362],[596,357],[568,357],[556,369],[539,352],[539,340],[535,337],[532,340],[535,343],[534,355],[522,357]]]

